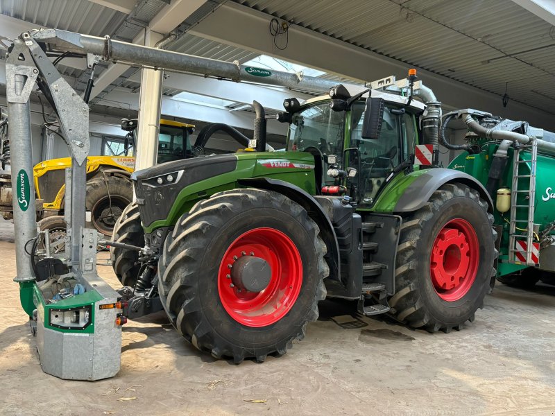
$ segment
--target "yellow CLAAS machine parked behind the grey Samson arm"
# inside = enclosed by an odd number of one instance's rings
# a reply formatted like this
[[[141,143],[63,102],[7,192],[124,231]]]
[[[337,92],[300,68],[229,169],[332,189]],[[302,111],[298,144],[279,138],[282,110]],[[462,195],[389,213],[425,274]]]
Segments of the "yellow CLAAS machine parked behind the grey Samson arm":
[[[4,128],[7,130],[7,117],[5,121]],[[92,226],[105,236],[112,236],[121,211],[133,200],[130,174],[135,167],[135,157],[128,152],[133,149],[137,120],[123,119],[121,128],[128,132],[121,154],[87,157],[85,207],[91,213]],[[191,157],[189,135],[192,132],[194,125],[160,120],[157,160],[162,163]],[[9,142],[2,142],[2,146],[8,149],[1,152],[8,152],[2,162],[9,164]],[[33,168],[38,226],[41,230],[50,230],[50,239],[54,244],[58,244],[65,236],[65,169],[69,167],[71,158],[62,157],[45,160]],[[13,218],[12,211],[12,175],[10,171],[5,171],[0,173],[0,214],[10,220]]]

